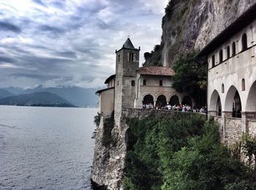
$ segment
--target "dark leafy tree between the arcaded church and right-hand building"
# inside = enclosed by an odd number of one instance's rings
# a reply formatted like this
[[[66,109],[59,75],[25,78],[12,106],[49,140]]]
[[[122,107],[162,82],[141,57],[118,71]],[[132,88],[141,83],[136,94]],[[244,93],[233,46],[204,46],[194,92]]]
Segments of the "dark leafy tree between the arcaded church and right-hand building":
[[[205,106],[207,86],[207,62],[195,60],[196,52],[189,52],[178,58],[173,65],[176,75],[173,76],[173,87],[178,92],[187,92],[197,101],[199,106]]]

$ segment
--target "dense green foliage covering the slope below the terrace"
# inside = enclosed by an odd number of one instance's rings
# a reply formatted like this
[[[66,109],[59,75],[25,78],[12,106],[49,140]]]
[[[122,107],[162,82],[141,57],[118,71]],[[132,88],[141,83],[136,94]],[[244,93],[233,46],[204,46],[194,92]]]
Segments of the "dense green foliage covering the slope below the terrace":
[[[203,115],[129,119],[124,189],[255,189],[252,170]]]

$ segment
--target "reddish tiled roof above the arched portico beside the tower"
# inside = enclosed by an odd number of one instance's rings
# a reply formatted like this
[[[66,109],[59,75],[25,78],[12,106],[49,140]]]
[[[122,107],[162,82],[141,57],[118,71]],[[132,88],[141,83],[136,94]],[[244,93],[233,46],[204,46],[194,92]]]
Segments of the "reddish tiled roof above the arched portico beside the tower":
[[[157,66],[148,66],[139,68],[140,74],[146,75],[160,75],[160,76],[173,76],[175,71],[170,67],[157,67]]]

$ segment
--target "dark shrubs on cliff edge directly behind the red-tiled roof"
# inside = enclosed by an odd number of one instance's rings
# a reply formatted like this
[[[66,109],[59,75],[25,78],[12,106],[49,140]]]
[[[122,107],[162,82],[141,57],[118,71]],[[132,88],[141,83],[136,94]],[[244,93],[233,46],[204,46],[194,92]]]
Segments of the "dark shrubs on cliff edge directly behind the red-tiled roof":
[[[145,63],[143,63],[143,66],[162,66],[161,51],[162,47],[155,45],[154,50],[144,53]]]

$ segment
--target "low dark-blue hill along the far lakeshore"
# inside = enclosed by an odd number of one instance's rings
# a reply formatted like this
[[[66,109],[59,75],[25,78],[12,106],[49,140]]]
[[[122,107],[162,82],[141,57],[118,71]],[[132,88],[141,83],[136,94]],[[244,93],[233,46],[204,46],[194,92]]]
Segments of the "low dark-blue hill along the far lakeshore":
[[[0,105],[74,107],[64,98],[50,92],[34,92],[1,98]]]

